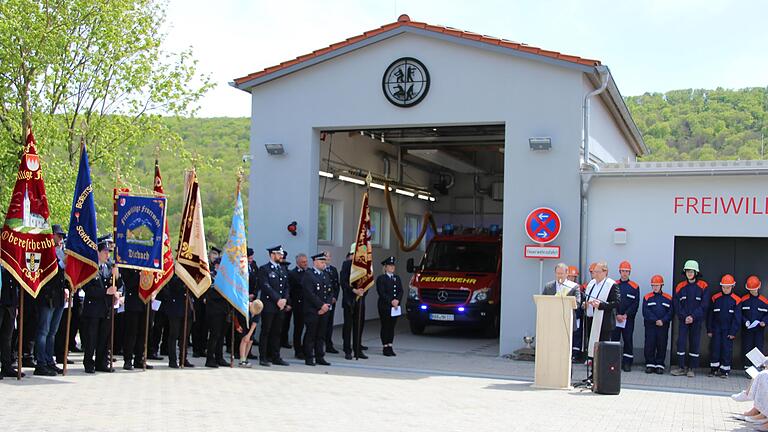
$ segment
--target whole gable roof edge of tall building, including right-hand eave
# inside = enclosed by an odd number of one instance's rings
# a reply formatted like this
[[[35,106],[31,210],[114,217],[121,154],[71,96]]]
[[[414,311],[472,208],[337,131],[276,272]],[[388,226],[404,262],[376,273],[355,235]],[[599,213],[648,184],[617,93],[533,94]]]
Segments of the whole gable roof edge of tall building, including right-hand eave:
[[[377,29],[351,37],[341,42],[329,45],[325,48],[312,51],[296,57],[293,60],[284,61],[278,65],[253,72],[251,74],[235,78],[231,86],[250,92],[253,87],[272,81],[285,75],[300,71],[318,63],[331,60],[340,55],[366,47],[385,39],[403,34],[412,33],[422,36],[438,38],[448,42],[459,43],[474,48],[486,49],[516,57],[579,70],[587,74],[590,82],[597,88],[599,86],[597,66],[601,66],[600,60],[583,58],[575,55],[562,54],[557,51],[549,51],[524,43],[512,42],[506,39],[480,35],[477,33],[458,30],[452,27],[435,26],[423,22],[411,21],[408,15],[400,15],[396,22],[383,25]],[[632,116],[627,109],[624,99],[619,92],[613,75],[609,75],[608,87],[600,98],[613,115],[619,129],[629,139],[632,149],[637,155],[648,153],[648,147],[643,142],[643,137],[637,129]]]

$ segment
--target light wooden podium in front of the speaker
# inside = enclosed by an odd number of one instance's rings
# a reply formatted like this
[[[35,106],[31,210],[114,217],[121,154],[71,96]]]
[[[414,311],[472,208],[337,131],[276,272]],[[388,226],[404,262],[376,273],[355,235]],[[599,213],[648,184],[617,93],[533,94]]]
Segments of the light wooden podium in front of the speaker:
[[[573,310],[576,298],[535,295],[536,377],[535,388],[571,388]]]

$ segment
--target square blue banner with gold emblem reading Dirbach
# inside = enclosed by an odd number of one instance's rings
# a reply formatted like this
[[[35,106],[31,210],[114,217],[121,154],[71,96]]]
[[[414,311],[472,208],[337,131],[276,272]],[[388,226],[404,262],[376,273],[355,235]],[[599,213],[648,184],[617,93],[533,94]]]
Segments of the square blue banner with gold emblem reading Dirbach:
[[[162,271],[165,204],[164,197],[117,196],[115,264],[118,267]]]

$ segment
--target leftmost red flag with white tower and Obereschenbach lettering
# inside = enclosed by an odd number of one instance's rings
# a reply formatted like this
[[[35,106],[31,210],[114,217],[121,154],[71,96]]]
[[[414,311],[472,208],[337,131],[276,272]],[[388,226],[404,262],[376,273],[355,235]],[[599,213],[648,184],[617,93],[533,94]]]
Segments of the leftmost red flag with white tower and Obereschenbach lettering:
[[[40,158],[29,130],[0,234],[0,265],[32,297],[59,270],[49,216]]]

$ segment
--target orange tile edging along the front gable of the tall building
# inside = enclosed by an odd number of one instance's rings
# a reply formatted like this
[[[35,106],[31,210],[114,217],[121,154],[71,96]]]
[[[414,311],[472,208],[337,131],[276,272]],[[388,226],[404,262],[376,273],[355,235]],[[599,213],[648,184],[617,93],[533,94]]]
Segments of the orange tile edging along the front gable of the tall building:
[[[597,65],[600,64],[600,60],[593,60],[593,59],[582,58],[582,57],[578,57],[578,56],[574,56],[574,55],[562,54],[562,53],[559,53],[557,51],[547,51],[547,50],[543,50],[541,48],[537,48],[537,47],[534,47],[534,46],[530,46],[530,45],[526,45],[526,44],[521,44],[521,43],[517,43],[517,42],[508,41],[506,39],[500,39],[500,38],[495,38],[495,37],[492,37],[492,36],[480,35],[480,34],[477,34],[477,33],[472,33],[472,32],[467,32],[467,31],[463,31],[463,30],[458,30],[458,29],[451,28],[451,27],[436,26],[436,25],[431,25],[431,24],[427,24],[427,23],[423,23],[423,22],[411,21],[411,18],[408,15],[403,14],[403,15],[400,15],[400,17],[397,19],[396,22],[383,25],[383,26],[381,26],[381,27],[379,27],[377,29],[374,29],[374,30],[369,30],[369,31],[367,31],[367,32],[365,32],[365,33],[363,33],[361,35],[353,36],[353,37],[351,37],[351,38],[349,38],[347,40],[344,40],[344,41],[341,41],[341,42],[337,42],[337,43],[332,44],[330,46],[327,46],[325,48],[321,48],[321,49],[312,51],[309,54],[305,54],[305,55],[299,56],[299,57],[297,57],[297,58],[295,58],[293,60],[285,61],[283,63],[280,63],[279,65],[268,67],[268,68],[266,68],[264,70],[261,70],[261,71],[258,71],[258,72],[254,72],[252,74],[246,75],[246,76],[241,77],[241,78],[236,78],[235,79],[235,85],[240,85],[240,84],[246,83],[246,82],[248,82],[250,80],[261,78],[261,77],[263,77],[265,75],[269,75],[269,74],[277,72],[277,71],[279,71],[281,69],[285,69],[287,67],[290,67],[290,66],[293,66],[293,65],[305,62],[307,60],[310,60],[310,59],[313,59],[313,58],[316,58],[316,57],[320,57],[320,56],[322,56],[324,54],[327,54],[329,52],[336,51],[338,49],[341,49],[341,48],[344,48],[346,46],[349,46],[349,45],[355,44],[357,42],[363,41],[365,39],[374,37],[374,36],[379,35],[381,33],[384,33],[384,32],[390,31],[390,30],[394,30],[394,29],[399,28],[399,27],[413,27],[413,28],[423,29],[423,30],[426,30],[426,31],[434,32],[434,33],[441,33],[441,34],[445,34],[445,35],[453,36],[453,37],[458,37],[458,38],[462,38],[462,39],[479,41],[479,42],[486,43],[486,44],[489,44],[489,45],[502,46],[504,48],[509,48],[509,49],[513,49],[513,50],[517,50],[517,51],[527,52],[527,53],[531,53],[531,54],[535,54],[535,55],[540,55],[540,56],[544,56],[544,57],[549,57],[549,58],[553,58],[553,59],[557,59],[557,60],[562,60],[562,61],[566,61],[566,62],[570,62],[570,63],[577,63],[577,64],[585,65],[585,66],[597,66]]]

